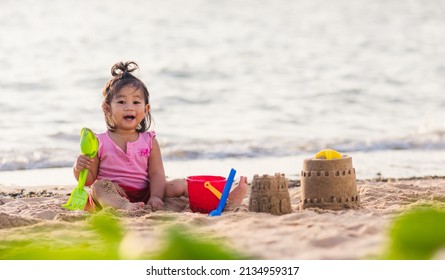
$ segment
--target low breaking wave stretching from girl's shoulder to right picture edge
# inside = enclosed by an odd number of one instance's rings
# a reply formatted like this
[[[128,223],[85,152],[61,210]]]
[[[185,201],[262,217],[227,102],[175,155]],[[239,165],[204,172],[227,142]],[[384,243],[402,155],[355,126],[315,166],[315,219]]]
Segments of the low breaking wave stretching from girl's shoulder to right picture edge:
[[[186,149],[184,147],[187,147]],[[343,153],[391,150],[440,150],[445,148],[445,131],[398,138],[366,139],[267,139],[259,142],[230,141],[166,145],[164,157],[172,160],[283,157],[316,153],[331,148]]]

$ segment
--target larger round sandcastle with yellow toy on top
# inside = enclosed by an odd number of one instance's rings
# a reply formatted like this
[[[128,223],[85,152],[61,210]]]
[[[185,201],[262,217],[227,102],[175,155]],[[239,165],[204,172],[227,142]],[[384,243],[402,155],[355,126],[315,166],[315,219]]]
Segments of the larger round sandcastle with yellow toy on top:
[[[331,210],[360,207],[351,157],[304,160],[300,209],[310,207]]]

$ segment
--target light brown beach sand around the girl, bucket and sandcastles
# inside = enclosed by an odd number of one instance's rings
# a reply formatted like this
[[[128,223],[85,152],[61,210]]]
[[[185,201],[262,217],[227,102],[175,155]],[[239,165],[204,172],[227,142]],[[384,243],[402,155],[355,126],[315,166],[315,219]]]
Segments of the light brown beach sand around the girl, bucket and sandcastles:
[[[255,259],[374,259],[388,242],[393,219],[414,204],[445,202],[445,179],[422,177],[357,181],[359,209],[340,211],[299,210],[300,186],[291,181],[292,212],[275,216],[248,211],[249,195],[243,204],[219,217],[193,213],[185,197],[166,200],[164,210],[122,212],[127,229],[126,258],[137,258],[162,246],[164,229],[186,225],[197,236],[222,240],[229,248]],[[13,240],[36,227],[54,227],[68,234],[84,223],[88,214],[67,211],[72,186],[34,187],[26,191],[0,186],[0,240]],[[142,246],[141,246],[142,244]]]

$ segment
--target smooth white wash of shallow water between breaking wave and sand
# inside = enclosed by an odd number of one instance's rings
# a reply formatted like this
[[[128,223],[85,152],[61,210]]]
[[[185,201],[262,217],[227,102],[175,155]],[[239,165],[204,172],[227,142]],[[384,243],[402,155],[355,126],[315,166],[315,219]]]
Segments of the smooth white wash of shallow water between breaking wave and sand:
[[[420,176],[444,176],[444,150],[398,150],[351,152],[357,179],[408,178]],[[185,178],[191,175],[218,175],[226,177],[231,168],[239,176],[284,173],[286,178],[298,180],[303,161],[314,154],[300,154],[286,157],[224,158],[195,160],[165,160],[168,179]],[[29,186],[72,186],[77,182],[71,168],[44,168],[0,172],[0,185]]]

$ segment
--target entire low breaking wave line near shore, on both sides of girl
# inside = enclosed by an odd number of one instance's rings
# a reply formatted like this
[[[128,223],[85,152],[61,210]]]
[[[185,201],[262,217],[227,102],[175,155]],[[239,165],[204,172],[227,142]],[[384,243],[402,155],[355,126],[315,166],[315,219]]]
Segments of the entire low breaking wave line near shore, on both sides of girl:
[[[62,135],[62,138],[71,138]],[[228,158],[286,157],[315,154],[321,149],[331,148],[341,153],[381,152],[401,150],[445,149],[445,130],[406,135],[398,138],[366,139],[262,139],[261,141],[209,141],[188,140],[181,143],[162,143],[165,160],[202,160]],[[0,171],[55,168],[72,166],[77,155],[77,146],[72,149],[44,147],[32,152],[18,150],[0,151]]]

